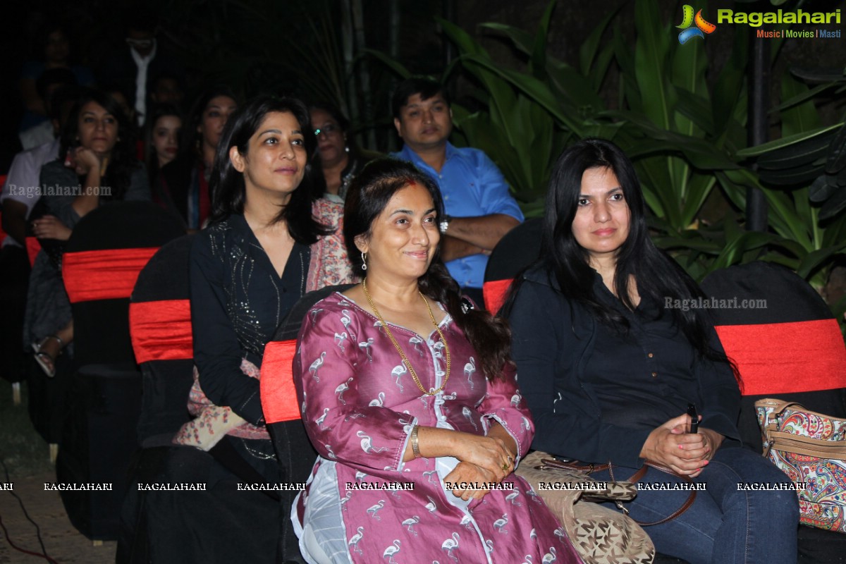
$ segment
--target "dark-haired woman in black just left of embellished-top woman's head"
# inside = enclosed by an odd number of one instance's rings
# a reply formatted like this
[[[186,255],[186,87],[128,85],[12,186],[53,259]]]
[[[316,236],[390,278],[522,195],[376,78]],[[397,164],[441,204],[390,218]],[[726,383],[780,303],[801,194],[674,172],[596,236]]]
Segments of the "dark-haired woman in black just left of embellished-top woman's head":
[[[154,200],[182,217],[191,230],[205,227],[211,214],[211,164],[223,126],[236,109],[238,102],[228,86],[206,90],[184,124],[182,154],[162,167],[153,186]]]

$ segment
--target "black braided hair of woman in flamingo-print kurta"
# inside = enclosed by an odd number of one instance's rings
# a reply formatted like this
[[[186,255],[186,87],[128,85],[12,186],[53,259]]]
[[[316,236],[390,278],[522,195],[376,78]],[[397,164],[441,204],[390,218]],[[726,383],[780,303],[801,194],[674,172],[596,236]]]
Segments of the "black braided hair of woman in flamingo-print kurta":
[[[438,217],[443,216],[443,200],[437,184],[413,164],[392,158],[376,159],[368,163],[350,184],[343,206],[343,239],[354,267],[361,268],[362,260],[355,238],[371,237],[373,222],[400,189],[418,183],[428,190]],[[362,271],[363,275],[367,271]],[[458,282],[449,275],[441,260],[440,244],[431,265],[418,281],[420,292],[440,302],[481,359],[481,370],[488,380],[502,377],[503,368],[510,362],[511,333],[508,323],[494,319],[482,309],[466,309]]]

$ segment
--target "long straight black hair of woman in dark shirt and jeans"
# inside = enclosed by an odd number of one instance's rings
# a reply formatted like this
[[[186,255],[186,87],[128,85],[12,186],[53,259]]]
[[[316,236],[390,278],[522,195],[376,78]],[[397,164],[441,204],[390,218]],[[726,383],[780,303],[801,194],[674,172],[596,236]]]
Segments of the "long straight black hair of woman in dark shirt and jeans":
[[[614,331],[626,332],[629,321],[614,309],[602,304],[594,293],[596,271],[589,255],[573,233],[573,221],[578,210],[582,175],[592,168],[607,168],[617,177],[626,203],[629,205],[629,236],[617,252],[614,272],[614,293],[623,304],[634,309],[629,292],[629,280],[634,277],[641,298],[660,304],[666,298],[705,298],[693,278],[675,260],[657,249],[649,237],[646,225],[646,205],[640,181],[629,157],[611,141],[586,139],[569,147],[552,169],[544,215],[540,264],[547,275],[558,282],[567,297],[583,304],[600,323]],[[512,296],[519,283],[512,288]],[[725,354],[709,343],[710,320],[700,309],[672,309],[676,325],[684,332],[701,357],[727,361]]]

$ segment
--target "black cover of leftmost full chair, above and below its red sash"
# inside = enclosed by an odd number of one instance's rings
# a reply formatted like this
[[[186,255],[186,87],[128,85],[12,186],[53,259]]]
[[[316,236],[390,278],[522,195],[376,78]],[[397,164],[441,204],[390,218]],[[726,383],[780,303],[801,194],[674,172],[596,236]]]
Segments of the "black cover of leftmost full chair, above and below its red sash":
[[[150,202],[114,202],[83,217],[67,253],[160,247],[184,234]],[[71,523],[91,539],[116,539],[137,445],[141,376],[129,339],[129,298],[71,304],[75,361],[57,460],[61,482],[112,484],[111,491],[63,491]]]

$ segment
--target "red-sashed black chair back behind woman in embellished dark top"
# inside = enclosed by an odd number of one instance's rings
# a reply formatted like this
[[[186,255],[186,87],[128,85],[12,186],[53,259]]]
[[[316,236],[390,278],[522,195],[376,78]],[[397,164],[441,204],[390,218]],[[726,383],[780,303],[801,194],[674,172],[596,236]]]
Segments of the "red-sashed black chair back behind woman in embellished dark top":
[[[129,304],[129,334],[140,365],[143,395],[138,441],[173,437],[190,419],[188,393],[194,383],[189,255],[194,235],[165,244],[135,282]]]

